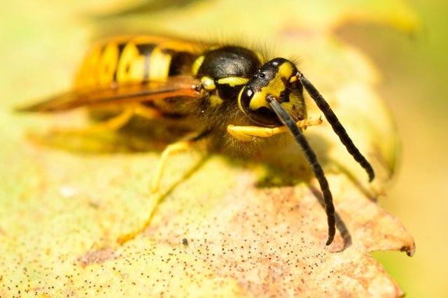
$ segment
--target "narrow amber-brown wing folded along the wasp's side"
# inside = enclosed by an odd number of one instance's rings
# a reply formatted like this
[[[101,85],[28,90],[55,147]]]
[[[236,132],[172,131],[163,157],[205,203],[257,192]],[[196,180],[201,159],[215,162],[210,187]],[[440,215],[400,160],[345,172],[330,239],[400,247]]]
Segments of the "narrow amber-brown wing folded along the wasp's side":
[[[181,76],[144,83],[113,83],[109,87],[92,87],[59,94],[38,104],[18,108],[17,111],[49,113],[81,106],[129,104],[169,97],[197,97],[197,84],[199,80]]]

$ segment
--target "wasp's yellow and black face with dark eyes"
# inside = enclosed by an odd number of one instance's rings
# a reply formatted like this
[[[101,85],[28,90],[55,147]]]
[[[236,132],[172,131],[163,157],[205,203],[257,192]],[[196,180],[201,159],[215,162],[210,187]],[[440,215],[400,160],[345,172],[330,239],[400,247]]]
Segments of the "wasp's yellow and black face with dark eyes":
[[[294,120],[306,117],[302,86],[297,81],[290,83],[297,73],[295,65],[283,58],[275,58],[255,72],[251,80],[239,92],[239,108],[254,122],[261,125],[281,125],[266,101],[275,97]]]

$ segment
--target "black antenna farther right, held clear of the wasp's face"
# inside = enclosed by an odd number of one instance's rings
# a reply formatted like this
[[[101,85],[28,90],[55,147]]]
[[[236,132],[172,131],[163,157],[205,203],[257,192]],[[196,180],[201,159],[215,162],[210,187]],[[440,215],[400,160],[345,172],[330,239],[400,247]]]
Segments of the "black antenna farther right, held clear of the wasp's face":
[[[325,115],[325,118],[327,118],[328,122],[330,123],[333,131],[335,131],[335,134],[339,136],[339,139],[344,144],[345,148],[351,156],[362,166],[367,174],[369,175],[369,181],[372,182],[373,178],[375,177],[374,171],[372,169],[372,166],[369,162],[367,162],[367,159],[359,152],[358,148],[356,148],[355,144],[353,144],[353,141],[351,141],[349,135],[347,134],[346,130],[342,126],[341,122],[339,122],[339,119],[337,119],[335,113],[330,108],[330,105],[323,99],[322,95],[317,91],[316,87],[309,82],[307,78],[303,76],[303,73],[300,71],[297,71],[297,74],[295,75],[297,80],[300,80],[300,83],[302,83],[303,87],[307,90],[308,94],[316,101],[317,106],[321,109],[323,115]]]

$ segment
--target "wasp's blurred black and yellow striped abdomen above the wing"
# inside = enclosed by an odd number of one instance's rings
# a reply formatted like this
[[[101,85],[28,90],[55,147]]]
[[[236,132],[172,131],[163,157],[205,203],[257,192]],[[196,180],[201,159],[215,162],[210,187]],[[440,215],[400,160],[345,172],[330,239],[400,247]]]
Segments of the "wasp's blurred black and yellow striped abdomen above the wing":
[[[191,76],[202,43],[160,36],[121,36],[96,45],[85,58],[75,88]]]

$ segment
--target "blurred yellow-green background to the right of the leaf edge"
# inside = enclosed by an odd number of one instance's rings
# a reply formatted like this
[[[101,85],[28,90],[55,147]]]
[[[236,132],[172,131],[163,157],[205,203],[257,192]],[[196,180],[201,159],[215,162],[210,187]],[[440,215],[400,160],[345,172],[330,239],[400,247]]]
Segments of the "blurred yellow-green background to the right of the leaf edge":
[[[402,139],[395,183],[380,204],[414,236],[416,253],[374,253],[407,297],[448,297],[448,2],[412,0],[421,29],[358,24],[339,31],[370,55]]]

